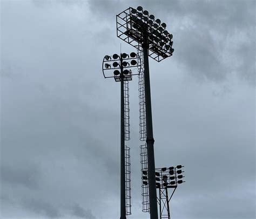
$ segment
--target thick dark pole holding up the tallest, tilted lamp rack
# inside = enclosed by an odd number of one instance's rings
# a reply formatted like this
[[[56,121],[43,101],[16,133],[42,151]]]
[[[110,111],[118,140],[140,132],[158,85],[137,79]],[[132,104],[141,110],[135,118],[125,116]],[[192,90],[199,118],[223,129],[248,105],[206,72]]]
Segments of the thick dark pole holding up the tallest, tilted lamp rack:
[[[146,105],[146,143],[147,143],[147,168],[149,176],[149,198],[150,198],[150,219],[157,219],[157,189],[156,173],[154,165],[154,138],[152,125],[151,110],[151,93],[150,93],[150,74],[149,74],[149,54],[147,39],[144,38],[143,59],[144,59],[144,81],[145,81],[145,105]]]

